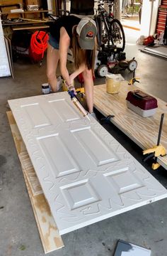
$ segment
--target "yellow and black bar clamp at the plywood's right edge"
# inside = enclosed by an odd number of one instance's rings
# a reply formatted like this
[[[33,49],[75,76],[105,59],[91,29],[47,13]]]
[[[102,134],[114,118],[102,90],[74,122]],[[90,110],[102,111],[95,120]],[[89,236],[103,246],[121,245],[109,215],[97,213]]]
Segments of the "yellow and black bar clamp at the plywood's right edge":
[[[148,159],[155,158],[155,162],[151,166],[151,168],[154,170],[158,169],[160,166],[160,164],[157,163],[158,156],[166,156],[166,149],[164,148],[164,146],[160,145],[163,117],[164,117],[164,113],[161,114],[161,122],[160,122],[160,126],[159,126],[159,137],[158,137],[157,145],[153,146],[151,149],[146,149],[143,151],[143,154],[148,154],[144,158],[144,160],[143,160],[144,162]]]

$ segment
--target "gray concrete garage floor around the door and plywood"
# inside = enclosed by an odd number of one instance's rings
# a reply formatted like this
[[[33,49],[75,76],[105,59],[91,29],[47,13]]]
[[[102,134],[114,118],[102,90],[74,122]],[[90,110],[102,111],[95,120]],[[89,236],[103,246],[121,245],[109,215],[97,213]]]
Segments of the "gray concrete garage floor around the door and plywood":
[[[137,86],[166,101],[166,60],[140,52],[138,48],[141,46],[135,44],[139,32],[128,28],[125,32],[127,59],[135,57],[138,62],[140,83]],[[0,256],[44,255],[6,111],[9,110],[9,99],[41,94],[41,84],[47,81],[45,70],[45,61],[40,68],[38,64],[18,60],[14,63],[15,78],[0,79]],[[95,83],[103,83],[103,79]],[[104,127],[142,162],[142,150],[138,146],[112,124]],[[167,188],[165,169],[152,171],[149,164],[142,164]],[[62,239],[65,247],[48,255],[112,256],[117,240],[122,239],[151,248],[151,256],[166,256],[167,199],[81,228],[63,235]]]

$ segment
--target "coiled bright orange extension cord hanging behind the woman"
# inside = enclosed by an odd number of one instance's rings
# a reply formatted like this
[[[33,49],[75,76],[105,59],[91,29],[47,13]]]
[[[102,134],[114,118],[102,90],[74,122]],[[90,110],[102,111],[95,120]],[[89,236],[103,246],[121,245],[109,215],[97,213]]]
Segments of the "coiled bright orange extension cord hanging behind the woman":
[[[30,39],[30,57],[34,62],[42,61],[49,36],[45,31],[36,31]]]

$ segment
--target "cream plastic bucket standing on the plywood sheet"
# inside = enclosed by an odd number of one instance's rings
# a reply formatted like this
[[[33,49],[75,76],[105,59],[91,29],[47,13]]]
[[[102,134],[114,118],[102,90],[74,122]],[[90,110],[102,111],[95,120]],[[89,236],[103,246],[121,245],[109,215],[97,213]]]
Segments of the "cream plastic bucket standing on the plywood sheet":
[[[121,81],[123,81],[122,75],[120,74],[108,74],[105,77],[106,92],[110,94],[116,94],[120,92]]]

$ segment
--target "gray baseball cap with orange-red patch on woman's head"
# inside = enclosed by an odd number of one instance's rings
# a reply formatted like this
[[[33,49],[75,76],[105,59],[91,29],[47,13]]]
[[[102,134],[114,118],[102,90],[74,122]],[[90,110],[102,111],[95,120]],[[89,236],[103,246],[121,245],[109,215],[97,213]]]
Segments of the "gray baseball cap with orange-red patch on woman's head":
[[[79,46],[84,50],[93,50],[97,35],[96,22],[92,18],[81,18],[76,32],[79,35]]]

